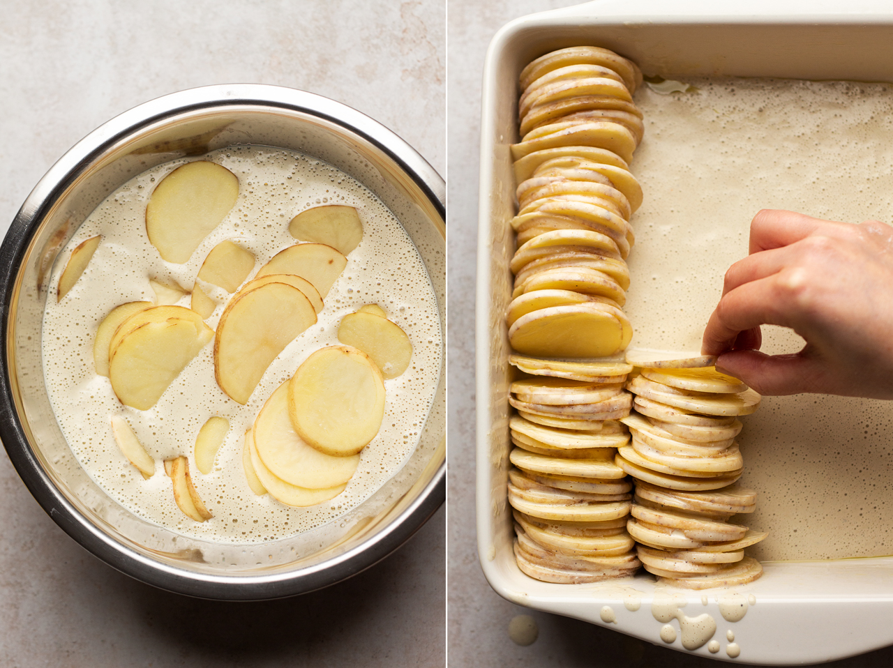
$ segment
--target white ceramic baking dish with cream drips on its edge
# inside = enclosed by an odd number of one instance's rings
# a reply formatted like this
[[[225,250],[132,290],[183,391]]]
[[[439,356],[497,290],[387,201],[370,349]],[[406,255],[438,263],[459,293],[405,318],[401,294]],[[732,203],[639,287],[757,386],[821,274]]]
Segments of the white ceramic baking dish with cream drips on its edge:
[[[893,82],[893,11],[881,3],[608,0],[533,14],[501,29],[490,44],[483,83],[477,284],[477,520],[480,563],[497,593],[519,605],[663,644],[652,614],[654,579],[592,585],[532,580],[516,566],[506,502],[509,346],[503,320],[510,300],[508,221],[515,188],[509,145],[518,140],[516,81],[522,67],[563,46],[592,44],[633,59],[646,74],[852,79]],[[635,164],[633,165],[635,171]],[[635,220],[633,220],[635,224]],[[753,664],[830,661],[893,643],[893,558],[764,564],[764,577],[722,591],[677,591],[689,618],[717,624],[715,653]],[[657,592],[658,607],[661,591]],[[749,598],[738,622],[723,618]],[[680,601],[677,601],[677,604]],[[747,604],[745,604],[747,605]],[[610,610],[606,610],[610,608]],[[605,622],[615,617],[615,622]],[[675,622],[673,622],[675,624]],[[706,622],[709,624],[709,622]],[[678,629],[678,625],[676,626]],[[680,634],[684,635],[684,634]],[[680,640],[670,647],[682,649]],[[716,646],[714,645],[714,650]],[[683,650],[684,651],[684,650]]]

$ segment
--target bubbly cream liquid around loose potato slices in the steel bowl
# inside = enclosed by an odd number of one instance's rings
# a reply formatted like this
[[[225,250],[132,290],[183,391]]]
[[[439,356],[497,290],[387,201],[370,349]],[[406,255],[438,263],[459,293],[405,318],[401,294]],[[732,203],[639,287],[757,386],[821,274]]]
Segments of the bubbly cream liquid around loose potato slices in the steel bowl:
[[[437,301],[418,251],[394,215],[367,188],[326,163],[301,154],[263,146],[221,149],[203,156],[220,163],[239,180],[239,196],[230,214],[213,230],[188,263],[165,263],[148,242],[146,202],[155,184],[187,160],[173,161],[129,180],[96,208],[59,255],[50,285],[55,286],[71,248],[101,234],[103,242],[88,270],[58,304],[47,300],[43,355],[46,386],[54,412],[72,452],[91,477],[121,505],[149,521],[188,536],[252,544],[308,530],[363,502],[392,477],[418,443],[430,411],[441,366]],[[96,375],[93,339],[96,327],[114,306],[151,301],[149,279],[176,281],[191,289],[204,257],[230,239],[250,250],[255,271],[273,255],[296,243],[288,222],[321,204],[352,205],[363,221],[363,240],[347,255],[347,265],[325,298],[318,321],[296,338],[271,364],[245,406],[226,397],[214,380],[213,344],[204,347],[159,402],[147,411],[121,405],[107,378]],[[202,284],[218,303],[206,320],[216,329],[229,295]],[[52,291],[54,295],[54,291]],[[363,450],[354,478],[341,495],[309,508],[281,505],[256,497],[242,468],[244,434],[263,402],[314,350],[339,345],[338,322],[346,313],[378,303],[408,334],[413,345],[409,369],[385,381],[385,418],[376,438]],[[179,302],[189,305],[186,296]],[[197,472],[192,451],[198,430],[212,415],[230,421],[213,472]],[[143,480],[121,455],[110,418],[124,415],[156,464],[188,455],[198,494],[214,515],[193,522],[174,504],[171,480],[156,465]]]

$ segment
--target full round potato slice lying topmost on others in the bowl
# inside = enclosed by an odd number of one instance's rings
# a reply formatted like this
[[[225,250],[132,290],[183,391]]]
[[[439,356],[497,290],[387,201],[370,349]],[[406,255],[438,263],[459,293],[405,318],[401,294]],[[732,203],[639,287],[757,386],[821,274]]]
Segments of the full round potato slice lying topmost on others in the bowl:
[[[295,430],[326,455],[360,452],[379,432],[384,411],[381,372],[356,348],[317,350],[288,384],[288,413]]]

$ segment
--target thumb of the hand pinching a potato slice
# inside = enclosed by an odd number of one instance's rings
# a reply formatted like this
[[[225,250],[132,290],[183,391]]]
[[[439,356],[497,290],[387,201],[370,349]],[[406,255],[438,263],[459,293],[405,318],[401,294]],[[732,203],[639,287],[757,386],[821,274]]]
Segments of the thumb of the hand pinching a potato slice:
[[[761,395],[822,391],[820,363],[802,353],[766,355],[758,350],[733,350],[716,358],[716,369],[742,380]]]

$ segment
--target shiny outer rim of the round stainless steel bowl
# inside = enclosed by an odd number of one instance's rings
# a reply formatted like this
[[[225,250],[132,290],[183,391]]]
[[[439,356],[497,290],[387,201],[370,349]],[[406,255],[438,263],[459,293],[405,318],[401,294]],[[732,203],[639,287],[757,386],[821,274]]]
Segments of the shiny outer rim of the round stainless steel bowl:
[[[189,88],[138,104],[82,138],[46,172],[25,199],[0,246],[0,293],[4,316],[0,336],[0,439],[21,480],[59,527],[105,564],[159,589],[215,600],[264,600],[322,589],[378,563],[412,537],[446,499],[446,457],[413,501],[386,527],[361,544],[317,564],[291,572],[216,575],[189,571],[154,560],[123,543],[80,514],[44,471],[16,409],[10,368],[9,318],[18,268],[31,235],[80,171],[129,134],[171,116],[207,109],[258,106],[305,113],[359,136],[394,161],[446,221],[446,183],[421,154],[378,121],[346,104],[295,88],[266,84],[219,84]]]

